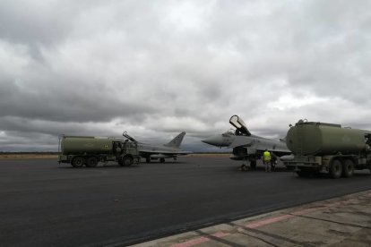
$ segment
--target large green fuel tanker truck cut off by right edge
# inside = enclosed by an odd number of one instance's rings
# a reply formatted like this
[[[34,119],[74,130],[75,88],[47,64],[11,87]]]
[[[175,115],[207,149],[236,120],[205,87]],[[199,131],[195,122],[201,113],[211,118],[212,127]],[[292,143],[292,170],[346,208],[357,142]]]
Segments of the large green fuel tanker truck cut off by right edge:
[[[355,169],[371,171],[371,131],[299,120],[286,137],[294,158],[284,165],[299,176],[327,173],[351,177]]]

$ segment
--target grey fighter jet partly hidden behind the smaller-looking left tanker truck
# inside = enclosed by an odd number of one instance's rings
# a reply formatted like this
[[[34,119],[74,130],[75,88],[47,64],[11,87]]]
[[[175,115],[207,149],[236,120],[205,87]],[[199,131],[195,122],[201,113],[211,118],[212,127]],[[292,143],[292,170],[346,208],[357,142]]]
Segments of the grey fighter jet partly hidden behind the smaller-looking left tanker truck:
[[[128,135],[126,132],[123,133],[123,136],[130,141],[135,141],[138,143],[139,155],[142,158],[145,158],[147,163],[150,163],[152,159],[160,159],[161,163],[165,162],[165,158],[174,158],[177,160],[177,156],[190,154],[192,152],[183,151],[179,149],[180,144],[185,137],[186,132],[181,132],[174,138],[172,141],[167,144],[152,145],[136,141],[133,137]]]

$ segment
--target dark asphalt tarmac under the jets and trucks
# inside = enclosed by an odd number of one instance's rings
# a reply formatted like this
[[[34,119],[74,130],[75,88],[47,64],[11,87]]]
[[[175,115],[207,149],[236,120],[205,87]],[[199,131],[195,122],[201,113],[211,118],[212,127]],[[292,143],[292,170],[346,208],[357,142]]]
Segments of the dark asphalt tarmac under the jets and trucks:
[[[224,157],[96,168],[0,160],[1,245],[129,245],[371,189],[368,170],[334,180],[239,165]]]

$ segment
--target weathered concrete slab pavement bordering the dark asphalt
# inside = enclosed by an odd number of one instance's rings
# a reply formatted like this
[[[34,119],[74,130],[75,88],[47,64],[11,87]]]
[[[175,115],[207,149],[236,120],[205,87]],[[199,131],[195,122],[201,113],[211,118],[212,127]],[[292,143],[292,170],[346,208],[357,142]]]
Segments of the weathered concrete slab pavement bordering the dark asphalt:
[[[354,210],[351,207],[358,207],[367,210],[367,212]],[[367,234],[371,235],[371,226],[364,226],[364,224],[355,224],[353,222],[341,222],[340,220],[332,220],[326,217],[324,214],[334,215],[341,212],[341,216],[347,214],[358,214],[358,217],[371,216],[371,191],[358,192],[355,194],[343,196],[341,198],[317,201],[304,206],[294,207],[291,209],[282,209],[276,212],[264,214],[262,216],[250,217],[246,219],[240,219],[234,222],[221,224],[219,226],[210,226],[201,230],[194,231],[193,236],[186,234],[178,234],[171,236],[171,240],[167,241],[167,238],[152,241],[149,243],[141,243],[134,246],[171,246],[171,247],[188,247],[188,246],[246,246],[248,242],[237,241],[236,238],[255,239],[260,243],[256,243],[259,246],[320,246],[328,245],[325,240],[321,241],[316,239],[315,241],[301,241],[300,239],[293,239],[285,234],[272,234],[274,230],[270,227],[280,227],[285,229],[284,224],[298,224],[300,220],[310,220],[311,224],[320,226],[324,224],[337,225],[337,227],[345,227],[345,230],[341,229],[328,229],[328,233],[339,234],[343,236],[351,236],[351,233],[355,233],[358,230],[365,230]],[[347,207],[350,209],[346,211]],[[363,208],[362,208],[363,207]],[[341,211],[341,210],[342,211]],[[345,210],[345,211],[344,211]],[[314,216],[315,215],[315,216]],[[335,216],[338,219],[338,216]],[[368,217],[370,218],[370,217]],[[247,224],[246,224],[247,223]],[[365,223],[363,220],[361,223]],[[277,224],[283,224],[279,226]],[[365,225],[371,224],[371,221],[366,221]],[[306,226],[306,225],[304,225]],[[228,229],[226,229],[226,227]],[[222,228],[222,230],[220,230]],[[299,228],[299,227],[298,227]],[[289,228],[288,228],[289,229]],[[303,229],[306,229],[304,227]],[[352,230],[351,230],[352,229]],[[309,230],[308,230],[309,231]],[[368,233],[369,232],[369,233]],[[198,235],[198,236],[196,236]],[[245,239],[246,241],[246,239]],[[178,242],[178,243],[174,243]],[[359,243],[370,244],[368,240],[363,240]],[[265,244],[265,245],[264,245]],[[250,245],[250,244],[249,244]],[[253,244],[254,245],[254,244]]]

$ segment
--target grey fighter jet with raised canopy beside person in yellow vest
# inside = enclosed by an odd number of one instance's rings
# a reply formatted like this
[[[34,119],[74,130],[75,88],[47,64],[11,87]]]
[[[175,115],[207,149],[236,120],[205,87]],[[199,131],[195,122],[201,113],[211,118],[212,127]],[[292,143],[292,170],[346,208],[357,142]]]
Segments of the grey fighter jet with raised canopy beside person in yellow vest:
[[[229,123],[236,130],[231,129],[222,134],[211,136],[203,140],[203,142],[220,148],[228,147],[233,149],[234,157],[231,159],[243,160],[241,168],[246,168],[245,163],[249,161],[250,167],[255,169],[256,160],[262,157],[265,149],[271,151],[276,157],[286,157],[291,154],[286,146],[286,141],[274,141],[252,134],[247,130],[244,121],[237,115],[232,115]]]

